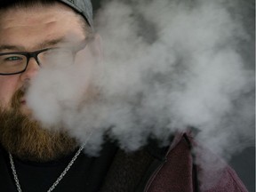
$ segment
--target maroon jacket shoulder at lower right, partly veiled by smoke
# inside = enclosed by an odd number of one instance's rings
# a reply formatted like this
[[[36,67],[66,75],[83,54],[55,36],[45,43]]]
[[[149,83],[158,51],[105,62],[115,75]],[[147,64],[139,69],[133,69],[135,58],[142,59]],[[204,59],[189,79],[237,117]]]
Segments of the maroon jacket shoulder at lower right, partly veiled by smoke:
[[[236,172],[220,156],[198,146],[193,137],[185,132],[176,135],[166,154],[164,164],[155,172],[154,179],[151,180],[147,192],[156,191],[247,192],[248,190]]]

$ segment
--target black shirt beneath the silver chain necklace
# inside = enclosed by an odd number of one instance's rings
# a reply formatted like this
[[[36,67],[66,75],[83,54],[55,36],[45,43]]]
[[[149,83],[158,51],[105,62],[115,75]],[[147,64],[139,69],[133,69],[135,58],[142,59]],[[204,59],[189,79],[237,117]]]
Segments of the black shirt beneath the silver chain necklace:
[[[90,157],[81,153],[60,183],[56,192],[96,192],[105,179],[116,154],[116,146],[105,144],[100,156]],[[70,154],[58,161],[36,163],[13,158],[22,192],[46,192],[64,171],[72,157]],[[17,192],[8,153],[0,146],[0,191]]]

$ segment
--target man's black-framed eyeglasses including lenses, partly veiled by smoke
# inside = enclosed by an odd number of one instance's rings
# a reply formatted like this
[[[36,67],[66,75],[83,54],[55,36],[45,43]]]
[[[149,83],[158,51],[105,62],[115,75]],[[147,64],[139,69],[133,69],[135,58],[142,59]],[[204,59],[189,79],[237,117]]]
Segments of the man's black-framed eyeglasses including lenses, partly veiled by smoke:
[[[34,58],[40,68],[49,65],[49,59],[66,58],[74,60],[76,52],[85,48],[89,41],[84,41],[76,46],[54,47],[38,50],[36,52],[0,52],[0,75],[10,76],[20,74],[28,68],[28,62]]]

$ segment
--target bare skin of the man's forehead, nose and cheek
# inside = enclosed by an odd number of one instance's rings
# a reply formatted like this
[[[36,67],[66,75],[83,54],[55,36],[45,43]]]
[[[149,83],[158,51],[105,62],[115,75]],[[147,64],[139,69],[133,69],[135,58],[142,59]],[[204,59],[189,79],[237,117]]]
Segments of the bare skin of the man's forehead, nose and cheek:
[[[58,46],[67,36],[76,36],[76,41],[85,38],[81,20],[69,7],[62,4],[10,9],[0,17],[0,52],[35,52]],[[75,42],[74,42],[75,43]],[[14,92],[27,84],[38,71],[35,59],[30,59],[25,72],[0,75],[0,105],[10,108]],[[26,100],[20,100],[26,111]]]

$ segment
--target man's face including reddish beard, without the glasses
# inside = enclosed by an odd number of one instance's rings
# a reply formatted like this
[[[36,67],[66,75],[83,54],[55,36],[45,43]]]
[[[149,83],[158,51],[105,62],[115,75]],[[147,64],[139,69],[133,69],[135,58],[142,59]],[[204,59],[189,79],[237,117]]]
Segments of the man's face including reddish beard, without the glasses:
[[[81,19],[62,4],[10,9],[0,12],[0,52],[35,52],[85,39]],[[63,43],[66,40],[66,43]],[[25,72],[0,75],[0,142],[20,158],[49,161],[76,148],[76,140],[65,132],[51,132],[28,118],[22,88],[36,76],[39,67],[34,58]],[[21,92],[21,93],[20,93]],[[15,105],[13,105],[15,103]],[[19,140],[18,140],[19,139]]]

